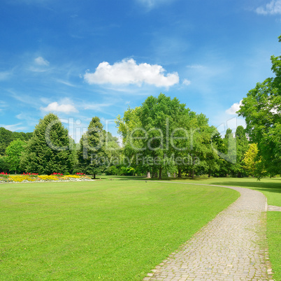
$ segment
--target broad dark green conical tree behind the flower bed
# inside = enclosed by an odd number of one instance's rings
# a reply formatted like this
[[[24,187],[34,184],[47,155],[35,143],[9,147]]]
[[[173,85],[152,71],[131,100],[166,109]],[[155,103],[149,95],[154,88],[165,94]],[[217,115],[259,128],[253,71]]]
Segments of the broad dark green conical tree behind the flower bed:
[[[72,144],[73,140],[59,117],[49,113],[36,125],[22,154],[21,166],[24,171],[39,174],[71,173],[74,161]]]

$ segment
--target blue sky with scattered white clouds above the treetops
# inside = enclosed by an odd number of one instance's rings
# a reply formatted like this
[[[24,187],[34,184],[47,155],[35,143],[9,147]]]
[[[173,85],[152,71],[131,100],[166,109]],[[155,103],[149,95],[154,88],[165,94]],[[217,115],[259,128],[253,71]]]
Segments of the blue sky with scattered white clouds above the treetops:
[[[160,92],[220,131],[280,55],[280,0],[2,0],[0,127],[56,113],[75,141]],[[222,125],[224,124],[224,125]]]

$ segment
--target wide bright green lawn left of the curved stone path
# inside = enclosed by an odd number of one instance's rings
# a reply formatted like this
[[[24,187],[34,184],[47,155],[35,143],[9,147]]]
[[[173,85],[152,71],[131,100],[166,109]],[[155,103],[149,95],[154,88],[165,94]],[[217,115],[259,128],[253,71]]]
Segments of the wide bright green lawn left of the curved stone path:
[[[0,280],[142,280],[238,196],[116,179],[0,185]]]

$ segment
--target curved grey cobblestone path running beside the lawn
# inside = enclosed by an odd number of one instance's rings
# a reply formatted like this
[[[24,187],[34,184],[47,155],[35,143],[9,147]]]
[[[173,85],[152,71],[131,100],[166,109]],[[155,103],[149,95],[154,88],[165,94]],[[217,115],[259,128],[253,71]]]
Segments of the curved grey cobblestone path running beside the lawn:
[[[266,196],[227,188],[240,192],[240,197],[144,280],[271,280],[265,250]]]

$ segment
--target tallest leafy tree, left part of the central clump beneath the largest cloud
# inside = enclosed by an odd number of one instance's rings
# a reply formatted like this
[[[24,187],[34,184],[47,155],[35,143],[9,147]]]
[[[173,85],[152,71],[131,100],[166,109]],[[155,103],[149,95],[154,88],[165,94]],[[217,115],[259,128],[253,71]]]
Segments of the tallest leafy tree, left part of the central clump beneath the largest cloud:
[[[129,108],[116,121],[123,137],[124,154],[135,159],[140,170],[158,174],[159,178],[163,171],[173,171],[178,145],[173,143],[173,134],[179,134],[175,129],[186,110],[185,104],[164,94],[148,96],[141,107]]]

